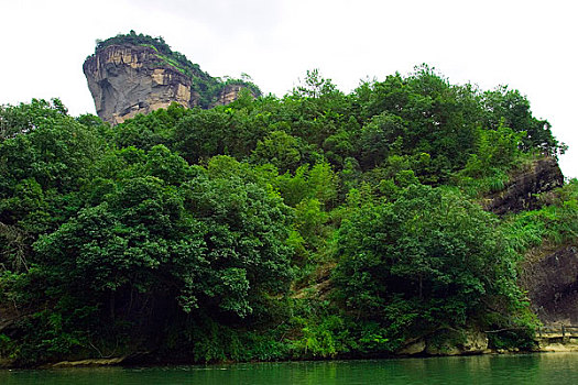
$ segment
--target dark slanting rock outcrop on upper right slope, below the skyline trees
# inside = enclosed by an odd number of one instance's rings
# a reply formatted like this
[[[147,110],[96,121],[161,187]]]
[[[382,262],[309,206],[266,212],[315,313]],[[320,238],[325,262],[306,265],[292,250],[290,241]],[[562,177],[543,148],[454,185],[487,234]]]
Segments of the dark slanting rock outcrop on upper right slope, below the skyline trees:
[[[553,157],[539,158],[512,175],[503,190],[488,197],[484,207],[498,215],[534,210],[541,206],[537,194],[549,191],[563,184],[564,175],[558,162]]]

